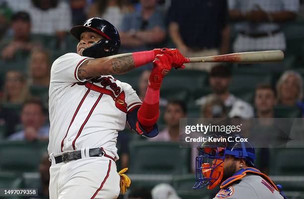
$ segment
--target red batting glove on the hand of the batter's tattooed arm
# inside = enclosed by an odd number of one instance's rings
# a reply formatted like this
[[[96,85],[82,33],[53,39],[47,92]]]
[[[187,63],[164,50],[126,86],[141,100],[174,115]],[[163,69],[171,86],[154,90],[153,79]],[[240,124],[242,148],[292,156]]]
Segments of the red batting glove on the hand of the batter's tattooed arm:
[[[157,48],[154,49],[154,55],[170,55],[173,58],[172,67],[175,69],[185,68],[184,63],[188,63],[186,58],[179,52],[178,49],[170,49],[170,48]]]

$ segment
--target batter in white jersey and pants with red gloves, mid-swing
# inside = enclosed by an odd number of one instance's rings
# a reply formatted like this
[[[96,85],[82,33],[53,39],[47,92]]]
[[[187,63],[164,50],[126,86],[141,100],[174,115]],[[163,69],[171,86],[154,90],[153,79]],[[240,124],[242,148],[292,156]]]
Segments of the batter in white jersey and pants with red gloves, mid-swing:
[[[52,65],[49,90],[50,199],[116,199],[130,180],[117,173],[116,138],[126,122],[138,134],[158,134],[161,81],[172,67],[183,68],[176,49],[120,54],[117,29],[90,18],[71,29],[79,43]],[[153,62],[143,102],[112,74]],[[120,177],[122,176],[122,177]],[[122,179],[122,181],[121,181]]]

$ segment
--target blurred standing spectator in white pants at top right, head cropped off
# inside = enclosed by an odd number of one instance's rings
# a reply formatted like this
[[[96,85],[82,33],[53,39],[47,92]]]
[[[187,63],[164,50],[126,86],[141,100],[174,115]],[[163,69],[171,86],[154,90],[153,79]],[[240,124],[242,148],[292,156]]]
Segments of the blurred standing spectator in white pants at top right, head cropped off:
[[[234,52],[286,49],[283,22],[296,18],[299,0],[229,0],[229,15],[238,32]]]

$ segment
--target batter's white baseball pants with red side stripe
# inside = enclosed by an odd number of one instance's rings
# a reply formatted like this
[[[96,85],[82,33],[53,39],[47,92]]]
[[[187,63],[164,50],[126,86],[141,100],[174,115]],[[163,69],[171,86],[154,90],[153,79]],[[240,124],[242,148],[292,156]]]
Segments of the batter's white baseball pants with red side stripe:
[[[50,199],[117,199],[120,176],[115,161],[81,151],[85,158],[58,164],[50,154]]]

